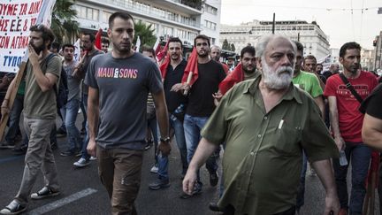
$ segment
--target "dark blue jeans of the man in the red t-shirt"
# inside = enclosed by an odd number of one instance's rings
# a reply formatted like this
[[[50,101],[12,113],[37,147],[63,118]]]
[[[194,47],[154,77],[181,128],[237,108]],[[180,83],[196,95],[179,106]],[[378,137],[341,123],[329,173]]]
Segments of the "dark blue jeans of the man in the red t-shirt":
[[[334,177],[341,208],[349,208],[349,214],[362,214],[366,194],[364,182],[369,170],[371,149],[363,142],[346,142],[345,154],[352,165],[352,188],[348,204],[348,165],[341,166],[340,159],[333,159]]]

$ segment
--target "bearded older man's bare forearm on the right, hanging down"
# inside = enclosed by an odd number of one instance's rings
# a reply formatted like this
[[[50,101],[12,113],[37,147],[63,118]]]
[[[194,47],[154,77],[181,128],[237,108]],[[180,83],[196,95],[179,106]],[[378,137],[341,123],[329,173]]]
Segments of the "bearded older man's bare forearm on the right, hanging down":
[[[313,168],[316,170],[318,178],[325,188],[325,215],[338,214],[340,212],[340,202],[337,196],[332,164],[330,159],[313,162]]]

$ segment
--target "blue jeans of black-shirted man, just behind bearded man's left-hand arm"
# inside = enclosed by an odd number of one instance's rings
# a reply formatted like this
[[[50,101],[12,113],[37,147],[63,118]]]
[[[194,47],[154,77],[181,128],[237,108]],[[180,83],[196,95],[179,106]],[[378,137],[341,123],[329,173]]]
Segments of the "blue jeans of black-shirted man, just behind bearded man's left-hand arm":
[[[186,144],[187,144],[187,162],[191,162],[192,157],[194,157],[195,150],[201,140],[201,130],[202,127],[207,123],[208,117],[192,117],[188,114],[185,115],[183,122],[183,127],[185,131]],[[218,170],[218,164],[216,162],[216,154],[214,153],[206,161],[206,168],[209,173],[214,173]],[[200,181],[200,175],[198,172],[197,180]]]

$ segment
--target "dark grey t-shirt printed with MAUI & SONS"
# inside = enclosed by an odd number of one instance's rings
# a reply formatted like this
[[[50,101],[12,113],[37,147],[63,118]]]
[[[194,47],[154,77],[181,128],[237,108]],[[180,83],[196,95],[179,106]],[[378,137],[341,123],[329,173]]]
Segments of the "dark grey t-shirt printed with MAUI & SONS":
[[[97,144],[104,149],[143,150],[148,94],[163,90],[157,65],[141,53],[129,58],[98,55],[88,65],[85,83],[99,92]]]

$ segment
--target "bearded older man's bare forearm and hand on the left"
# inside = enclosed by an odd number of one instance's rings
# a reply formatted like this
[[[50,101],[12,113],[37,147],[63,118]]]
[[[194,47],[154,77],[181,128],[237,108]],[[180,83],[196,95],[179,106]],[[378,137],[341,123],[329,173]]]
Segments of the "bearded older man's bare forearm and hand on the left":
[[[202,137],[195,151],[194,157],[188,165],[187,174],[183,180],[183,191],[191,195],[194,190],[197,170],[204,164],[210,155],[218,148],[218,144],[209,142]]]

